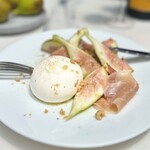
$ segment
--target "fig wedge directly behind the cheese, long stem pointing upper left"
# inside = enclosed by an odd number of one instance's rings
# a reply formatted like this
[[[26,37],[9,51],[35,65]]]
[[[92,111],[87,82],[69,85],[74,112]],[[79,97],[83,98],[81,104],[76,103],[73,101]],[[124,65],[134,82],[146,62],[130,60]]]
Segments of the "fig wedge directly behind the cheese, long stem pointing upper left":
[[[84,77],[100,67],[100,64],[92,56],[78,47],[70,44],[62,37],[54,35],[53,39],[64,45],[64,47],[67,49],[70,59],[80,65]]]

